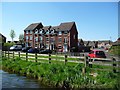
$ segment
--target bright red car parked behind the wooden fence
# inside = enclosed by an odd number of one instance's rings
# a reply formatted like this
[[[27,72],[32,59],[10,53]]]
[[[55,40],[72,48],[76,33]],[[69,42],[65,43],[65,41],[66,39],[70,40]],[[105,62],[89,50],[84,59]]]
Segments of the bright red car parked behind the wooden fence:
[[[90,58],[106,58],[104,51],[102,50],[92,50],[88,56]]]

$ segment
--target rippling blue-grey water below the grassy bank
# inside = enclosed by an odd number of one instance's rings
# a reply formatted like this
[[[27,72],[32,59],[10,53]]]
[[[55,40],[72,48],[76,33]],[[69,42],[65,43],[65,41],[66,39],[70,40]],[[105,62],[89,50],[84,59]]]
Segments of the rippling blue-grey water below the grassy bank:
[[[0,87],[2,88],[42,88],[37,80],[0,70]]]

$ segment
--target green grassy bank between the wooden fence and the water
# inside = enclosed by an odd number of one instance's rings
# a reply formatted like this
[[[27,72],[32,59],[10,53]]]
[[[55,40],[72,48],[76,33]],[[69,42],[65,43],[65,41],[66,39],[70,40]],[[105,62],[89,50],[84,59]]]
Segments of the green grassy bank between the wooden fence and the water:
[[[49,87],[56,88],[119,88],[119,73],[96,71],[87,68],[82,73],[84,64],[40,63],[24,61],[20,58],[2,58],[2,68],[16,74],[40,80]],[[90,75],[96,73],[96,76]],[[118,75],[119,74],[119,75]]]

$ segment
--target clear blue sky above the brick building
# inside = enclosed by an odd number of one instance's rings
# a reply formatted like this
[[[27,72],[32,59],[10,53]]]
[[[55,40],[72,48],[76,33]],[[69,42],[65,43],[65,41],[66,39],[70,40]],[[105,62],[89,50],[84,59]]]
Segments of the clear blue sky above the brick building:
[[[112,40],[118,38],[117,2],[3,2],[2,34],[10,38],[10,30],[19,34],[31,23],[57,26],[75,21],[78,38]],[[111,37],[111,38],[110,38]]]

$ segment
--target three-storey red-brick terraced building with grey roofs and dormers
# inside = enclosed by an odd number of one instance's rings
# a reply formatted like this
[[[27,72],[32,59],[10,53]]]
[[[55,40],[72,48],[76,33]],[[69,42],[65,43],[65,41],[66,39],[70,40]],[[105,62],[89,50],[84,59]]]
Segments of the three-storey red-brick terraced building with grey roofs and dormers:
[[[78,47],[78,32],[75,22],[65,22],[59,26],[32,23],[24,30],[24,37],[25,45],[33,48],[68,52]]]

